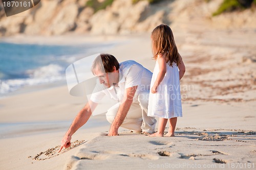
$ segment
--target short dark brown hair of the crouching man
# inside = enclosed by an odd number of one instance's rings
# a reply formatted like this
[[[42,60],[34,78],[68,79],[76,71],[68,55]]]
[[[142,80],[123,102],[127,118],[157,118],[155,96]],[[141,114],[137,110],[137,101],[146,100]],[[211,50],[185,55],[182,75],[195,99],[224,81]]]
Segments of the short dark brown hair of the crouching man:
[[[117,59],[111,54],[100,54],[100,56],[96,57],[93,61],[93,65],[91,67],[91,71],[95,72],[95,69],[102,72],[113,72],[113,67],[116,67],[116,70],[119,69],[119,62]]]

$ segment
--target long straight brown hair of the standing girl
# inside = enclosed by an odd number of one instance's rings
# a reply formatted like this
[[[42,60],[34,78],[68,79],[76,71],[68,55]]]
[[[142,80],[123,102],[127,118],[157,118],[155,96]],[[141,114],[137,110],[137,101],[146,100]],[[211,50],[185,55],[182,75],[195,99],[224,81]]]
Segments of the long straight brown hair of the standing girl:
[[[159,54],[166,53],[166,63],[173,66],[172,64],[175,62],[178,66],[180,63],[180,54],[178,53],[174,35],[170,27],[165,24],[157,26],[152,31],[151,38],[153,59],[157,60]]]

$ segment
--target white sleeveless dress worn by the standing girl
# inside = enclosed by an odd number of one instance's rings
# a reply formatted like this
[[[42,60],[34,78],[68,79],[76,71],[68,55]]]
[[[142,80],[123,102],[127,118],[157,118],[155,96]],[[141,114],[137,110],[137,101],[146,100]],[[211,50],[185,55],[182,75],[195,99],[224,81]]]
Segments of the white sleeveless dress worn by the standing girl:
[[[153,87],[158,73],[159,65],[156,62],[151,87]],[[173,63],[173,67],[166,63],[166,73],[157,87],[157,92],[153,94],[150,91],[147,115],[162,118],[182,117],[179,69],[175,63]]]

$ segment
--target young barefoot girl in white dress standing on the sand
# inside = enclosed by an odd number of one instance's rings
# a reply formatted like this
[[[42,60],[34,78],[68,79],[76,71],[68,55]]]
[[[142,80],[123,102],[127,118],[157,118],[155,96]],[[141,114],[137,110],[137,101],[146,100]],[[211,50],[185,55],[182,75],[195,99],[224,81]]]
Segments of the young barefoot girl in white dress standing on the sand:
[[[172,30],[167,25],[156,27],[151,34],[153,59],[156,60],[148,103],[148,116],[158,116],[158,131],[150,136],[174,136],[177,117],[182,117],[180,79],[185,65],[178,53]],[[179,68],[179,69],[178,69]]]

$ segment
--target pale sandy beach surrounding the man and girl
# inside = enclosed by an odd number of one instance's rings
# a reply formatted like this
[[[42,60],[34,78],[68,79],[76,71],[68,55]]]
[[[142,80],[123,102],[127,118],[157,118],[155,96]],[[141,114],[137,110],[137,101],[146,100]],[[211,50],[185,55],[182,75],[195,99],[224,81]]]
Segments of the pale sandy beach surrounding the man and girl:
[[[0,169],[255,169],[255,30],[174,28],[174,36],[186,65],[176,137],[148,137],[123,128],[119,136],[104,136],[110,124],[100,114],[73,135],[70,149],[58,154],[62,136],[87,100],[71,96],[65,84],[25,87],[0,99]],[[5,41],[24,43],[19,38]],[[62,38],[28,37],[27,42],[115,41],[105,53],[119,62],[136,60],[151,71],[155,66],[150,34]]]

